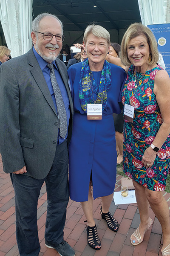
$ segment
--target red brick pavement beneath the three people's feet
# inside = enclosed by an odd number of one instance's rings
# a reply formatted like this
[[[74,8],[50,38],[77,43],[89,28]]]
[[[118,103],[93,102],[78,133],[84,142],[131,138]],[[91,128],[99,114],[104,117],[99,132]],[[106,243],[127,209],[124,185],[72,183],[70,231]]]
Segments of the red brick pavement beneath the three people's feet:
[[[115,191],[120,190],[120,175],[116,178]],[[164,192],[170,209],[170,193]],[[150,209],[153,225],[145,233],[142,244],[134,247],[130,244],[130,235],[139,225],[139,211],[136,204],[115,205],[112,202],[110,211],[118,220],[120,227],[117,233],[108,229],[105,220],[101,219],[99,209],[100,198],[94,201],[94,218],[99,237],[102,242],[101,250],[94,250],[87,244],[85,216],[81,205],[69,201],[64,230],[64,239],[74,247],[76,256],[161,256],[162,246],[161,225]],[[59,256],[53,250],[45,247],[44,231],[47,201],[45,184],[42,186],[38,202],[38,230],[41,244],[40,256]],[[15,237],[15,204],[14,191],[8,174],[3,172],[0,157],[0,256],[19,256]]]

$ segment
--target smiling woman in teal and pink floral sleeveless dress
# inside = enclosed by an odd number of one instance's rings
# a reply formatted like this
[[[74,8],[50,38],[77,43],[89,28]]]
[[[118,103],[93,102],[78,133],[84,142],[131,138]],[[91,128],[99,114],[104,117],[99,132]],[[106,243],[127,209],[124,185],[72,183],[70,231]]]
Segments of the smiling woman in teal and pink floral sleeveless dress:
[[[170,163],[170,78],[157,61],[156,39],[146,26],[134,23],[122,39],[122,63],[127,80],[124,105],[124,172],[133,179],[140,225],[131,235],[140,244],[152,225],[149,205],[161,223],[161,253],[170,256],[170,218],[165,190]],[[130,67],[129,67],[130,66]]]

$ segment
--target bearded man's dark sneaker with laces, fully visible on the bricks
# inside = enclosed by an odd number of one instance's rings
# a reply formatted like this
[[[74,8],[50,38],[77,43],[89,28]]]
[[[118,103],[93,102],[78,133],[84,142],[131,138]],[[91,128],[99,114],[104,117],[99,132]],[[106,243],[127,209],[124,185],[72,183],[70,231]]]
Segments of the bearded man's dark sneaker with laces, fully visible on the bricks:
[[[66,241],[63,241],[62,243],[58,244],[55,247],[53,247],[52,245],[48,244],[47,241],[45,241],[45,246],[50,248],[50,249],[57,250],[57,252],[61,256],[74,256],[74,255],[76,255],[73,248]]]

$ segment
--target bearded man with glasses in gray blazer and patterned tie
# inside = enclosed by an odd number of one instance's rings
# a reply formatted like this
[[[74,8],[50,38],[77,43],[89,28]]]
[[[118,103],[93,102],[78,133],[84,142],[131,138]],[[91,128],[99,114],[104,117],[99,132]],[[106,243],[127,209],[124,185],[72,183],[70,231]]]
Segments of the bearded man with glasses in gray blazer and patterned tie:
[[[45,181],[48,207],[45,245],[74,256],[63,240],[68,204],[68,144],[73,104],[62,49],[62,23],[47,13],[33,21],[34,47],[0,67],[0,153],[15,192],[16,236],[20,256],[38,256],[37,202]],[[52,63],[66,111],[66,135],[60,135]],[[65,127],[64,127],[65,128]]]

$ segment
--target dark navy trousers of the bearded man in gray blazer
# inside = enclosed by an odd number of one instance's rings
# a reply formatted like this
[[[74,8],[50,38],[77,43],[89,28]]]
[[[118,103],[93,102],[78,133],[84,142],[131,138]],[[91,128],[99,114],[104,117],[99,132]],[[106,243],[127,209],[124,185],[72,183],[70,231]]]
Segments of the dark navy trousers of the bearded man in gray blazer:
[[[67,141],[57,145],[54,162],[47,177],[37,180],[27,175],[11,174],[11,181],[15,192],[16,236],[20,256],[38,256],[40,242],[37,203],[44,181],[48,202],[45,240],[54,246],[63,241],[69,199]]]

